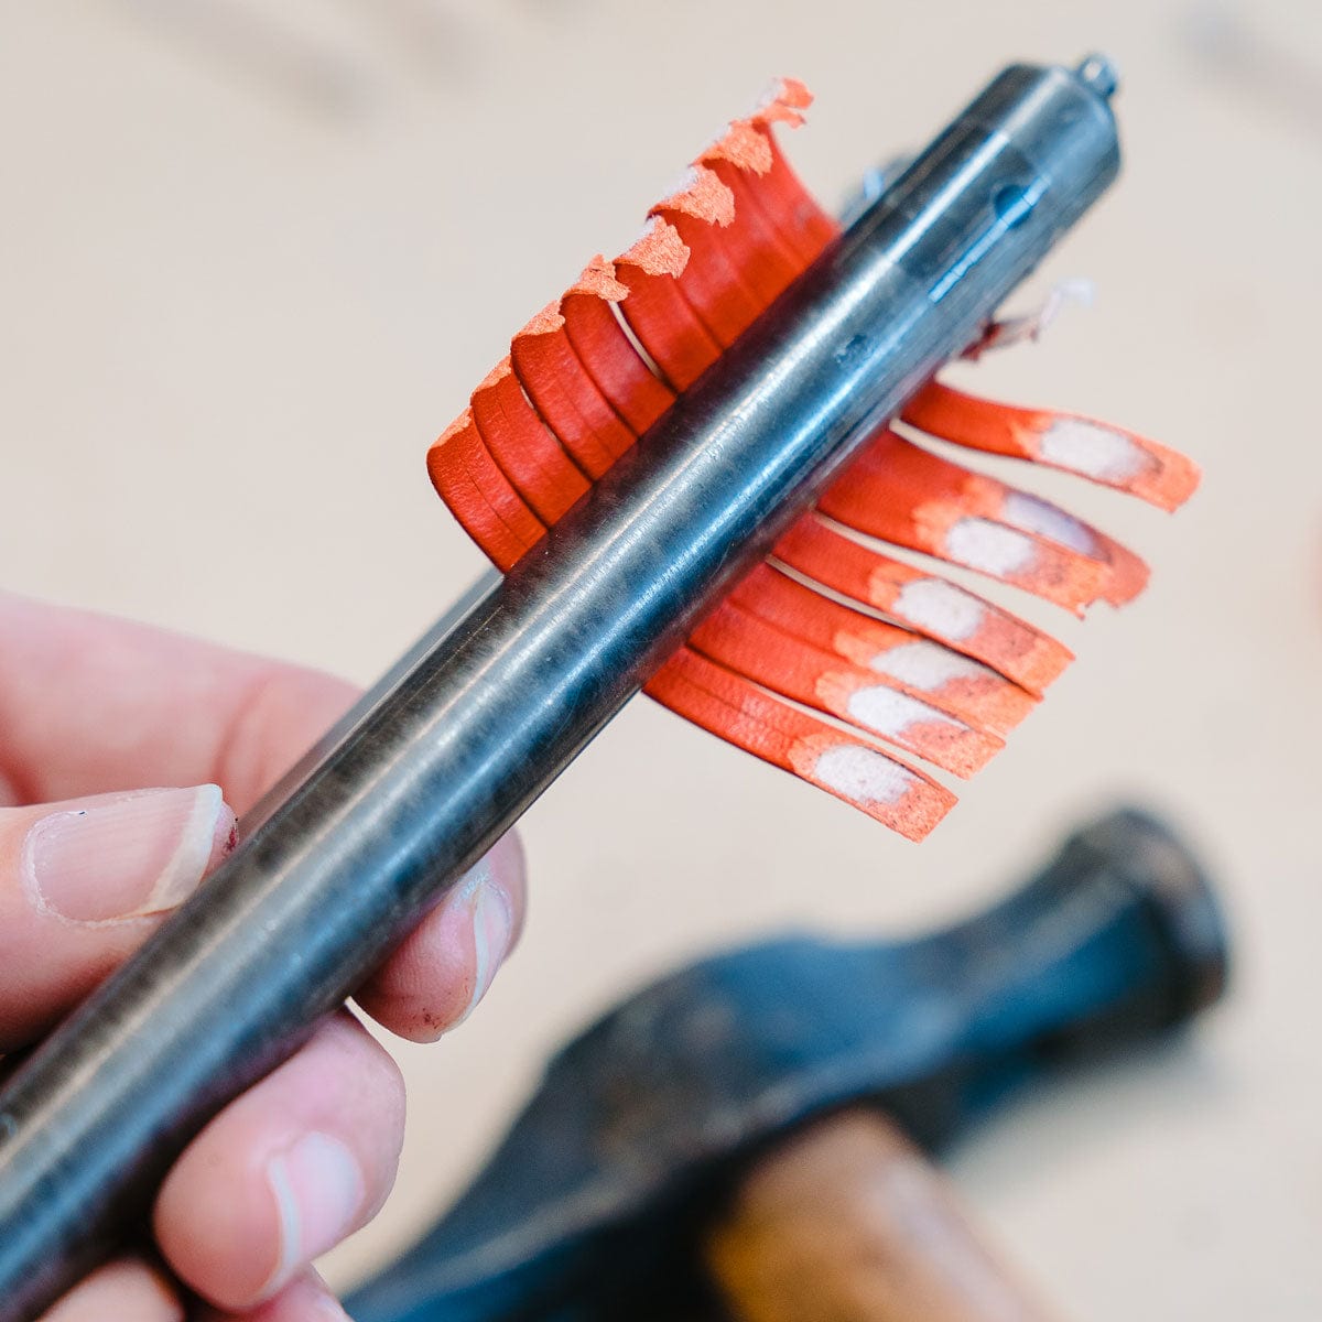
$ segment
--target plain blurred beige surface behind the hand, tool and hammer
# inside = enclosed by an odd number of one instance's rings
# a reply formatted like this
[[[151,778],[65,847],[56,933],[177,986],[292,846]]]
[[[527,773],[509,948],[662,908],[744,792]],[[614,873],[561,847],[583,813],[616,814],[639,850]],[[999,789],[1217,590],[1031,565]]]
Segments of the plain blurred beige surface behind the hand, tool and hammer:
[[[408,1146],[348,1281],[444,1203],[543,1052],[625,988],[788,923],[984,903],[1076,814],[1166,805],[1224,878],[1235,998],[953,1161],[1066,1315],[1322,1314],[1315,1009],[1322,19],[1306,0],[0,3],[8,584],[370,681],[480,567],[422,471],[508,334],[773,73],[838,198],[1001,62],[1112,53],[1122,186],[1052,259],[1099,301],[989,390],[1191,451],[1155,566],[921,849],[637,702],[526,822],[489,1003],[401,1047]],[[1052,486],[1052,490],[1058,488]]]

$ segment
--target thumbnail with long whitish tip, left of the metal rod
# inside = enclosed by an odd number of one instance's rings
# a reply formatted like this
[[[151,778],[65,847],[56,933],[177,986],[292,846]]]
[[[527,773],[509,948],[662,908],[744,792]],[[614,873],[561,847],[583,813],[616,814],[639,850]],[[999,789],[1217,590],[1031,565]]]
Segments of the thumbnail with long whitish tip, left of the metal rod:
[[[233,845],[219,785],[144,789],[50,813],[28,830],[32,904],[67,923],[118,923],[173,908]]]

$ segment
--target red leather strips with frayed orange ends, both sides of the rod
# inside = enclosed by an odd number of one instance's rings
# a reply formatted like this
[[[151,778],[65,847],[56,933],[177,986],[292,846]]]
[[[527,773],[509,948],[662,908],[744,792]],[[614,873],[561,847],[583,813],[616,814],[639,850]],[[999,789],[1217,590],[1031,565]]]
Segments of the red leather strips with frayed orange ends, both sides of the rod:
[[[810,102],[777,82],[731,123],[613,260],[596,256],[514,336],[427,457],[468,534],[509,570],[836,237],[773,136]],[[984,345],[994,342],[994,334]],[[1059,468],[1175,509],[1185,456],[1091,418],[939,382],[912,431]],[[693,723],[911,839],[954,796],[896,750],[956,776],[1003,746],[1071,661],[1048,635],[883,542],[1081,615],[1147,580],[1138,557],[1038,496],[882,427],[646,685]]]

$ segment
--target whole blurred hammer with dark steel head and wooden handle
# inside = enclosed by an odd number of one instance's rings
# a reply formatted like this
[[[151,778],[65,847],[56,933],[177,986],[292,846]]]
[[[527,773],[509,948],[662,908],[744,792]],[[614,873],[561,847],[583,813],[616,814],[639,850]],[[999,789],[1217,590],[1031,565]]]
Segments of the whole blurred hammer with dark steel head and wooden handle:
[[[1011,1088],[1225,982],[1207,880],[1154,818],[1075,832],[992,910],[898,944],[703,960],[550,1063],[357,1322],[1042,1322],[932,1153]]]

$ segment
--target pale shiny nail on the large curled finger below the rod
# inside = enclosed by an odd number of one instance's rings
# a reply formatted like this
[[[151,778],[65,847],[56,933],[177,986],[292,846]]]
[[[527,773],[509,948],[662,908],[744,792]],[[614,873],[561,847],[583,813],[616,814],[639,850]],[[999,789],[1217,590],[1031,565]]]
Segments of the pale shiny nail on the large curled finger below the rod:
[[[353,1229],[366,1186],[353,1153],[338,1138],[316,1132],[272,1157],[266,1178],[280,1218],[280,1261],[270,1285],[275,1288]]]

